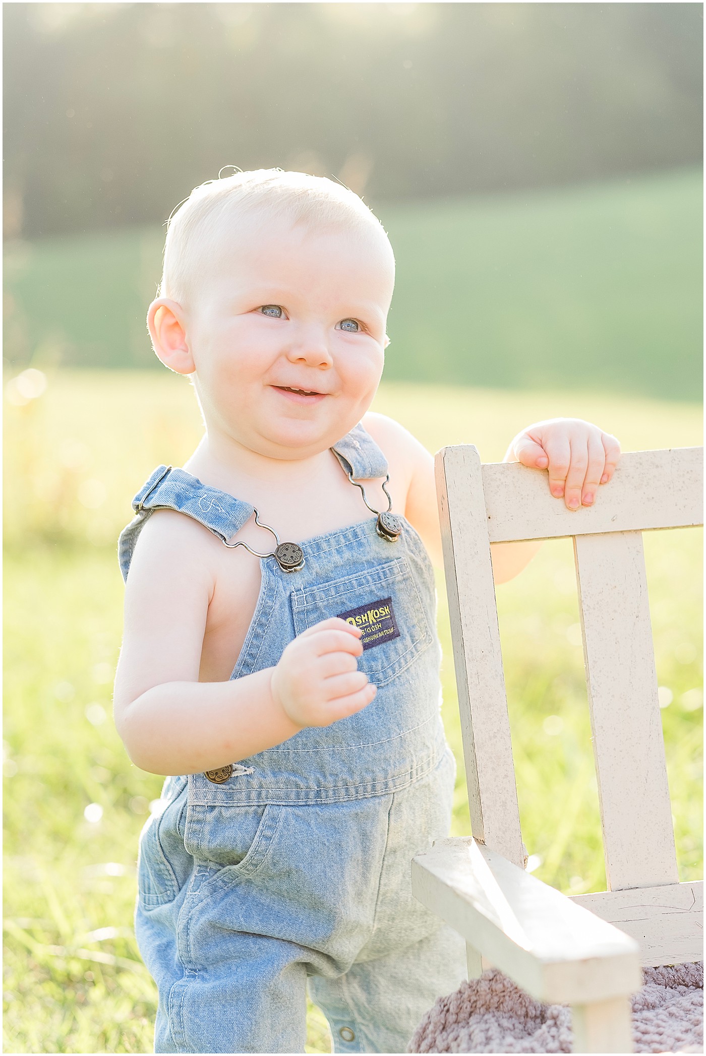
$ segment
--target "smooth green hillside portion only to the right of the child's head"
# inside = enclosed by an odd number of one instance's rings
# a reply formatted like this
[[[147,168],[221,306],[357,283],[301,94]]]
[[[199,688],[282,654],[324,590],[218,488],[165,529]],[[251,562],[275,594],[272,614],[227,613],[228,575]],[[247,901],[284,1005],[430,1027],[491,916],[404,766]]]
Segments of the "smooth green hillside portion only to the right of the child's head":
[[[694,400],[702,174],[397,207],[388,379]]]

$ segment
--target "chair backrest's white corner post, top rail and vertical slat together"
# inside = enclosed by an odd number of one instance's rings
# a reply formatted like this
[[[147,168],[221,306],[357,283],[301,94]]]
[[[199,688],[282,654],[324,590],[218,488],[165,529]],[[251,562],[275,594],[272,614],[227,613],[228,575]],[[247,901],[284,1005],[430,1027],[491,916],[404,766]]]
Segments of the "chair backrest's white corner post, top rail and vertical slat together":
[[[609,889],[677,882],[640,530],[703,524],[703,449],[623,455],[576,512],[545,471],[436,455],[472,832],[523,861],[490,543],[574,536]]]

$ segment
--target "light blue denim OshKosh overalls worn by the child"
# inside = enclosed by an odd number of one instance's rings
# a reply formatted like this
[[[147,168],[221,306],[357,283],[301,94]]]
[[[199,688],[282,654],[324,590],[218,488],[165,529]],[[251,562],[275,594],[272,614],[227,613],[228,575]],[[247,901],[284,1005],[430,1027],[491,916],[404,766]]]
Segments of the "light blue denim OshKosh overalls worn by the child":
[[[360,426],[333,450],[357,480],[387,474]],[[126,578],[153,510],[179,510],[223,542],[254,512],[164,466],[133,508],[119,541]],[[141,836],[135,917],[159,987],[155,1052],[301,1053],[309,984],[337,1052],[401,1053],[465,978],[462,941],[410,889],[412,856],[448,834],[454,763],[440,718],[433,571],[414,529],[400,527],[391,542],[368,515],[305,540],[293,572],[260,561],[231,678],[274,666],[296,635],[342,616],[361,626],[358,667],[377,694],[211,779],[167,778],[164,810]]]

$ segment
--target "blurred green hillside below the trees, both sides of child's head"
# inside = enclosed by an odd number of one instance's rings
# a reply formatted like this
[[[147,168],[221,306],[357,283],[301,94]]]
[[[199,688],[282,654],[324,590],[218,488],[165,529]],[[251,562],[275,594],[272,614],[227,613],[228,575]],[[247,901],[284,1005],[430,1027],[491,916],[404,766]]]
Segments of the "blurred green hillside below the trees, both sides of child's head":
[[[397,259],[388,379],[699,399],[702,184],[686,169],[379,209]],[[8,361],[155,365],[163,241],[155,225],[7,243]]]

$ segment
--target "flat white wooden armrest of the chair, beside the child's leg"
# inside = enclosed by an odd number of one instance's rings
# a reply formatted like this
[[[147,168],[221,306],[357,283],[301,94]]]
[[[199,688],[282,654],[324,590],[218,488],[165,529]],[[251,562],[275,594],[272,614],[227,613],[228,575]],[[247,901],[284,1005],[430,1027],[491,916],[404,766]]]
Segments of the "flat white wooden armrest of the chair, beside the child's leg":
[[[471,836],[417,854],[412,892],[539,1001],[586,1004],[643,984],[634,939]]]

